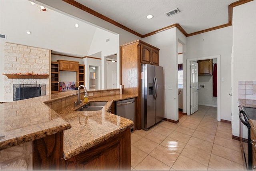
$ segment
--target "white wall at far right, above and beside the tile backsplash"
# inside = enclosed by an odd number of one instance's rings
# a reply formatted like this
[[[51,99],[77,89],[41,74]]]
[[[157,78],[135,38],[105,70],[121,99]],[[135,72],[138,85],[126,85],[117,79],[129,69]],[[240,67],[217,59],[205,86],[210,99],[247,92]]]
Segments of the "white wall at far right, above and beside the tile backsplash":
[[[239,136],[238,81],[256,81],[256,1],[233,8],[233,135]]]

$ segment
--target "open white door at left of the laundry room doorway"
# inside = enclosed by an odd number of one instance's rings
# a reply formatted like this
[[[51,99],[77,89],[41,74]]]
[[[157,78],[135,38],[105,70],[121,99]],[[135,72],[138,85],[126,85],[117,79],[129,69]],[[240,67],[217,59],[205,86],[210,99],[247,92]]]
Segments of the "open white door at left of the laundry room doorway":
[[[190,62],[190,114],[198,111],[198,64]]]

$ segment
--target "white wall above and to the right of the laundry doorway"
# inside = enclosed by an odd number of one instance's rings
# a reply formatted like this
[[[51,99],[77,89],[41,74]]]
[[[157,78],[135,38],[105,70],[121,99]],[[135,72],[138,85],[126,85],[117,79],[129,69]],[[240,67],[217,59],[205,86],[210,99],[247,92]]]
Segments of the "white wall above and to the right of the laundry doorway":
[[[187,38],[187,59],[220,55],[220,119],[231,121],[232,26]],[[184,67],[183,67],[184,68]],[[183,74],[183,76],[186,73]]]

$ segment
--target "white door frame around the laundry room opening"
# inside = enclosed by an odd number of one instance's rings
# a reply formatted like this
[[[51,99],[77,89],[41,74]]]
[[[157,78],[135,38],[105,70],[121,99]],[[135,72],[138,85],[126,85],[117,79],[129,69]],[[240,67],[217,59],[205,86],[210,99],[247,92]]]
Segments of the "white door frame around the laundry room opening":
[[[187,115],[190,115],[190,61],[196,61],[196,60],[207,60],[207,59],[213,59],[217,58],[217,120],[220,121],[220,55],[214,55],[214,56],[206,56],[201,58],[191,58],[187,59]],[[189,84],[188,84],[189,83]]]

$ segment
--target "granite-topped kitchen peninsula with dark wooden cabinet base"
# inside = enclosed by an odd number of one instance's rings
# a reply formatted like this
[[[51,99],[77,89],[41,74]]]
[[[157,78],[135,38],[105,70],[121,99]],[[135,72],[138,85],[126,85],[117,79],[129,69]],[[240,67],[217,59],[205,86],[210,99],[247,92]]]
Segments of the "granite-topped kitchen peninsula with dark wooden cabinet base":
[[[129,170],[130,127],[134,123],[108,110],[114,101],[134,97],[90,97],[89,101],[107,102],[99,111],[75,111],[84,105],[74,107],[76,90],[0,104],[1,157],[8,149],[23,145],[24,151],[31,149],[24,157],[27,169]]]

